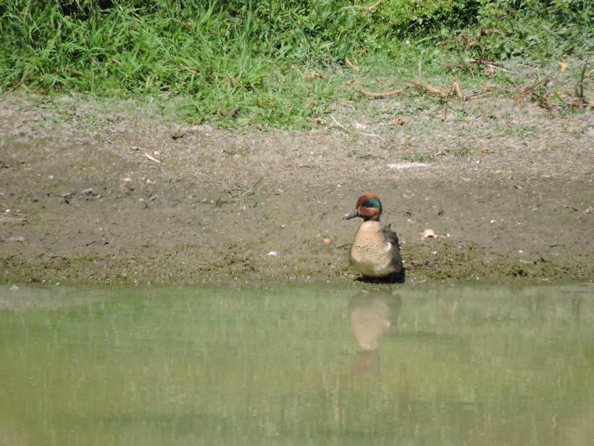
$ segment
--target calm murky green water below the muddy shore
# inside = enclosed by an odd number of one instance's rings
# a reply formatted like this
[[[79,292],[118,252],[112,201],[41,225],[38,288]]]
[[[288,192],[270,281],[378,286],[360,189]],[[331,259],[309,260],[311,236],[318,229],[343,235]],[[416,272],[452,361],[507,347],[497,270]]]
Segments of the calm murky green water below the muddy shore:
[[[0,288],[0,444],[594,443],[594,287]]]

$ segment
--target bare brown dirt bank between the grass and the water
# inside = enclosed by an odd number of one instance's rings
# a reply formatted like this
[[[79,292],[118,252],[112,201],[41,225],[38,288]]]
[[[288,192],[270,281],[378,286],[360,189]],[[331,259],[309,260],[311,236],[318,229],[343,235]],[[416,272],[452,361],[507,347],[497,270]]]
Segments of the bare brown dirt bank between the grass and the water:
[[[4,96],[0,283],[359,286],[342,216],[368,192],[408,282],[592,281],[592,111],[382,107],[397,103],[334,114],[344,127],[225,130],[130,101]]]

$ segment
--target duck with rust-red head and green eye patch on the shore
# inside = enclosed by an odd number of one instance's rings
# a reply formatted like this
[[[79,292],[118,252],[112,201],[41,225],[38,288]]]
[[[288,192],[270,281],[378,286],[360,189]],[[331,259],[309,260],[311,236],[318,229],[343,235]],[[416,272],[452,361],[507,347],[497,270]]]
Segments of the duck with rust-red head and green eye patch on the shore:
[[[343,220],[363,219],[350,247],[349,263],[369,278],[385,278],[403,271],[398,235],[390,225],[382,227],[380,215],[380,198],[375,194],[363,194],[357,200],[355,210],[343,217]]]

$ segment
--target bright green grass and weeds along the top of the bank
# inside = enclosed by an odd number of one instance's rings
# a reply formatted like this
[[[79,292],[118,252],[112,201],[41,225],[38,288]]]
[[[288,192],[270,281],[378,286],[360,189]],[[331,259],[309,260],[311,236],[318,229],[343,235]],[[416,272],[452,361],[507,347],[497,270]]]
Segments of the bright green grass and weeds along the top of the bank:
[[[593,48],[589,0],[0,0],[2,92],[175,98],[191,123],[299,125],[358,95],[347,81],[410,80],[419,61],[480,78],[468,59]]]

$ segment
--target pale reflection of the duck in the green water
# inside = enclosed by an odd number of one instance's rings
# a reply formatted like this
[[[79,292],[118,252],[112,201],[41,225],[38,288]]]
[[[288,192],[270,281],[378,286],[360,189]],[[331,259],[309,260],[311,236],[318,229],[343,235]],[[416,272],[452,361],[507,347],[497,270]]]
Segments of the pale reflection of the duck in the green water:
[[[355,373],[380,375],[380,339],[396,326],[402,299],[392,291],[362,291],[349,301],[349,318],[361,350],[355,357]]]

